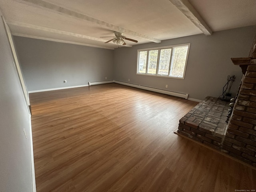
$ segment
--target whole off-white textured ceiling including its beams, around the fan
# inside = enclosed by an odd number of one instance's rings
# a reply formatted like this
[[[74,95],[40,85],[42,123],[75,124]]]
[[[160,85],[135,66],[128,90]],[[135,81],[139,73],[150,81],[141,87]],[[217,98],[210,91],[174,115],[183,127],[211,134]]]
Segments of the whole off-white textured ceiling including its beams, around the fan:
[[[0,10],[14,35],[109,49],[99,37],[114,31],[132,46],[256,24],[255,0],[0,0]]]

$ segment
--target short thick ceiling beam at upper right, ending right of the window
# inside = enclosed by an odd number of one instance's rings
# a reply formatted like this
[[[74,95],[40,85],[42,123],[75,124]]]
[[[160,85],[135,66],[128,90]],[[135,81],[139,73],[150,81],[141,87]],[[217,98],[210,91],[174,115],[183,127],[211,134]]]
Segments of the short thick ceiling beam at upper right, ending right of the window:
[[[195,26],[197,26],[205,35],[211,35],[212,30],[202,19],[196,9],[188,0],[169,0],[174,4]]]

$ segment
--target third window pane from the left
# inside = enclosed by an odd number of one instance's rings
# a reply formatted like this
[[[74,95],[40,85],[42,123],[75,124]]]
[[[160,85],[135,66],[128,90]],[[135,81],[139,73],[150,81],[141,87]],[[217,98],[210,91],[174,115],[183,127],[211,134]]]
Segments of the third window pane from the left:
[[[168,70],[170,66],[170,58],[171,58],[172,49],[161,49],[160,50],[160,60],[159,60],[159,75],[168,75]]]

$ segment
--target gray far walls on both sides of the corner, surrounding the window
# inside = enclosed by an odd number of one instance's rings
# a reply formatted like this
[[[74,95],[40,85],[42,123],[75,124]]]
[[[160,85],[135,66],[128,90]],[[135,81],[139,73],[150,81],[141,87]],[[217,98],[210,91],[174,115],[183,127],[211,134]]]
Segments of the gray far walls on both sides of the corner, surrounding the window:
[[[188,93],[189,98],[202,100],[220,96],[227,76],[233,74],[234,96],[242,73],[230,58],[248,56],[255,34],[256,26],[249,26],[214,32],[212,36],[194,35],[114,51],[18,36],[14,41],[29,91],[79,86],[104,81],[105,77],[122,82],[130,78],[133,84]],[[138,49],[184,43],[191,43],[184,80],[136,75]]]

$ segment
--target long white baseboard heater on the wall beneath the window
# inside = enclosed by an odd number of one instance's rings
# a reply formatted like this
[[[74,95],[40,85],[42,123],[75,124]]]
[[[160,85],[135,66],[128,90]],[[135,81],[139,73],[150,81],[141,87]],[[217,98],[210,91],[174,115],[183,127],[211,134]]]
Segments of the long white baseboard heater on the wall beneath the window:
[[[127,85],[127,86],[131,86],[131,87],[136,87],[136,88],[139,88],[139,89],[149,90],[149,91],[153,91],[153,92],[158,92],[158,93],[162,93],[162,94],[166,94],[166,95],[171,95],[171,96],[175,96],[175,97],[188,99],[188,94],[187,93],[178,93],[178,92],[156,89],[156,88],[151,88],[151,87],[141,86],[141,85],[137,85],[137,84],[126,83],[126,82],[121,82],[121,81],[115,81],[115,80],[114,80],[114,83],[118,83],[118,84]]]

